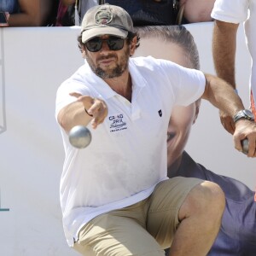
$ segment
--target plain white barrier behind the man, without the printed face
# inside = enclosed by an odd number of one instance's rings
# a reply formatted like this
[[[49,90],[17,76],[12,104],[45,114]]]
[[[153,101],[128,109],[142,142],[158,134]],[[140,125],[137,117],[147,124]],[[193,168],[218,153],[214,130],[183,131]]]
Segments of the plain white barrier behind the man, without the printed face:
[[[214,73],[212,23],[187,28],[199,47],[201,70]],[[78,34],[78,27],[0,28],[1,255],[78,255],[67,247],[61,225],[64,152],[54,117],[57,87],[84,63]],[[250,59],[241,28],[238,38],[237,81],[240,96],[248,102]],[[206,102],[187,151],[213,172],[254,189],[255,159],[236,152],[218,111]]]

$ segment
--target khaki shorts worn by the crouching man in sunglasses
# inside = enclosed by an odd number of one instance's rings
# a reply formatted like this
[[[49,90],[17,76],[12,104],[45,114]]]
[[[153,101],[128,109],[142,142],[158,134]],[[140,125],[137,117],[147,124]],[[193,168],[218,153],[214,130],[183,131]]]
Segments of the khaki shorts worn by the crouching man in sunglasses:
[[[85,224],[74,249],[86,256],[164,256],[179,224],[179,208],[199,183],[202,180],[193,177],[173,177],[159,183],[147,199]]]

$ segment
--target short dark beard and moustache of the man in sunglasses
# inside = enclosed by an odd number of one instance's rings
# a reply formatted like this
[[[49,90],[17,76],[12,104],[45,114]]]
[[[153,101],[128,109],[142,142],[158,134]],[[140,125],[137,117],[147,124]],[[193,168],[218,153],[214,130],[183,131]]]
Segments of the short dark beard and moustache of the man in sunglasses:
[[[99,58],[97,61],[102,61],[104,59],[108,59],[111,57],[116,58],[116,55],[109,54],[107,56]],[[88,62],[91,70],[94,73],[96,73],[98,77],[100,77],[101,79],[113,79],[121,76],[122,73],[125,72],[126,68],[128,67],[129,57],[130,57],[130,49],[127,48],[125,50],[125,55],[121,57],[121,60],[119,63],[116,64],[116,67],[113,67],[113,69],[108,69],[108,70],[103,70],[101,67],[97,67],[89,56],[86,57],[86,61]]]

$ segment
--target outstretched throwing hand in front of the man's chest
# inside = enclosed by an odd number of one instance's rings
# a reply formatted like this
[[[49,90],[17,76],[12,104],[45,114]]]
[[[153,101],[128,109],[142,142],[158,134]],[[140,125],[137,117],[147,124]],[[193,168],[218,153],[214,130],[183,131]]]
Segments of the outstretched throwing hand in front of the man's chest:
[[[103,123],[104,119],[108,115],[107,104],[101,99],[92,98],[90,96],[81,96],[79,93],[73,92],[70,94],[78,98],[78,102],[82,102],[84,105],[84,111],[91,117],[91,126],[96,129],[97,125]]]

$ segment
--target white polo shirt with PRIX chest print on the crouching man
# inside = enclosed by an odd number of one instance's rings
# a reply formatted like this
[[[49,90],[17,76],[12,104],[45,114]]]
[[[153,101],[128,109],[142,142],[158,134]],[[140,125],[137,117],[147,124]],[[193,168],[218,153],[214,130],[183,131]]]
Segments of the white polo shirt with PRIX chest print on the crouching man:
[[[66,159],[61,176],[61,209],[67,242],[73,246],[80,228],[103,212],[147,198],[166,179],[166,134],[174,105],[195,102],[205,89],[197,70],[153,57],[131,58],[132,100],[119,96],[87,63],[57,91],[56,112],[74,102],[70,92],[101,98],[108,117],[87,148],[73,148],[61,129]]]

